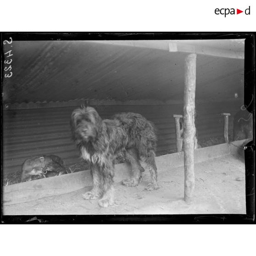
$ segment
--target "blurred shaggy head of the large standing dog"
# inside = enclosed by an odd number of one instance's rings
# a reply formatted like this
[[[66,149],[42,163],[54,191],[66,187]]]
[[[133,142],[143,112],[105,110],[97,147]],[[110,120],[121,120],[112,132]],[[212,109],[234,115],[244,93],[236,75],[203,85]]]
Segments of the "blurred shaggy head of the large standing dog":
[[[101,129],[102,119],[93,107],[81,106],[72,112],[72,137],[77,143],[94,141]]]

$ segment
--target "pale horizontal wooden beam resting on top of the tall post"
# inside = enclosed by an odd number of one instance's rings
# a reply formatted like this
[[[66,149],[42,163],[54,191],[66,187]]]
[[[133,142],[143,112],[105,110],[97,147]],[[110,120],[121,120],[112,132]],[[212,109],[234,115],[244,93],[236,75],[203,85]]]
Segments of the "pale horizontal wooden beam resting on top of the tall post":
[[[169,43],[170,52],[196,53],[200,55],[226,57],[233,59],[244,59],[245,53],[242,51],[224,50],[221,48],[213,48],[201,45],[188,45],[183,43]]]

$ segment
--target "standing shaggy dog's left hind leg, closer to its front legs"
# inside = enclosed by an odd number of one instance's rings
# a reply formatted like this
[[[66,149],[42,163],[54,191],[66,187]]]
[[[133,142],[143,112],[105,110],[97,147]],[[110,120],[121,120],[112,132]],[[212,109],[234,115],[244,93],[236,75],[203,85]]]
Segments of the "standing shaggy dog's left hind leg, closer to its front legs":
[[[141,181],[142,173],[145,171],[139,162],[138,153],[135,149],[128,149],[125,152],[125,158],[132,166],[132,177],[123,180],[122,184],[128,187],[137,186]]]

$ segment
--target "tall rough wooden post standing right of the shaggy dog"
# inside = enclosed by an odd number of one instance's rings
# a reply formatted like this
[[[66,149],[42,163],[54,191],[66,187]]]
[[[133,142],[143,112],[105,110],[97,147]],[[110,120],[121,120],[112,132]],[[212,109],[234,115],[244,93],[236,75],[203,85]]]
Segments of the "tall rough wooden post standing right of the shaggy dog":
[[[194,136],[195,136],[195,80],[196,54],[191,53],[185,58],[184,88],[184,169],[185,189],[184,200],[190,204],[195,188]]]

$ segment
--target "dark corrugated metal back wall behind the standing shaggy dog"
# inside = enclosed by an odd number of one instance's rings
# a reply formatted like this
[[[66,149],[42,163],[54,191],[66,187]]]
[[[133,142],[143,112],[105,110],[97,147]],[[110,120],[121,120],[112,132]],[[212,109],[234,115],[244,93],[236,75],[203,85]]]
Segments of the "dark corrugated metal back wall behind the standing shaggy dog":
[[[230,112],[229,130],[232,133],[233,116],[241,104],[200,104],[198,111],[198,139],[223,136],[221,112]],[[157,155],[175,152],[176,139],[173,114],[182,113],[182,105],[98,106],[103,118],[122,111],[138,112],[154,122],[157,128]],[[69,120],[75,107],[5,110],[3,113],[3,171],[21,170],[23,161],[31,156],[55,154],[67,165],[79,161],[79,152],[71,140]]]

